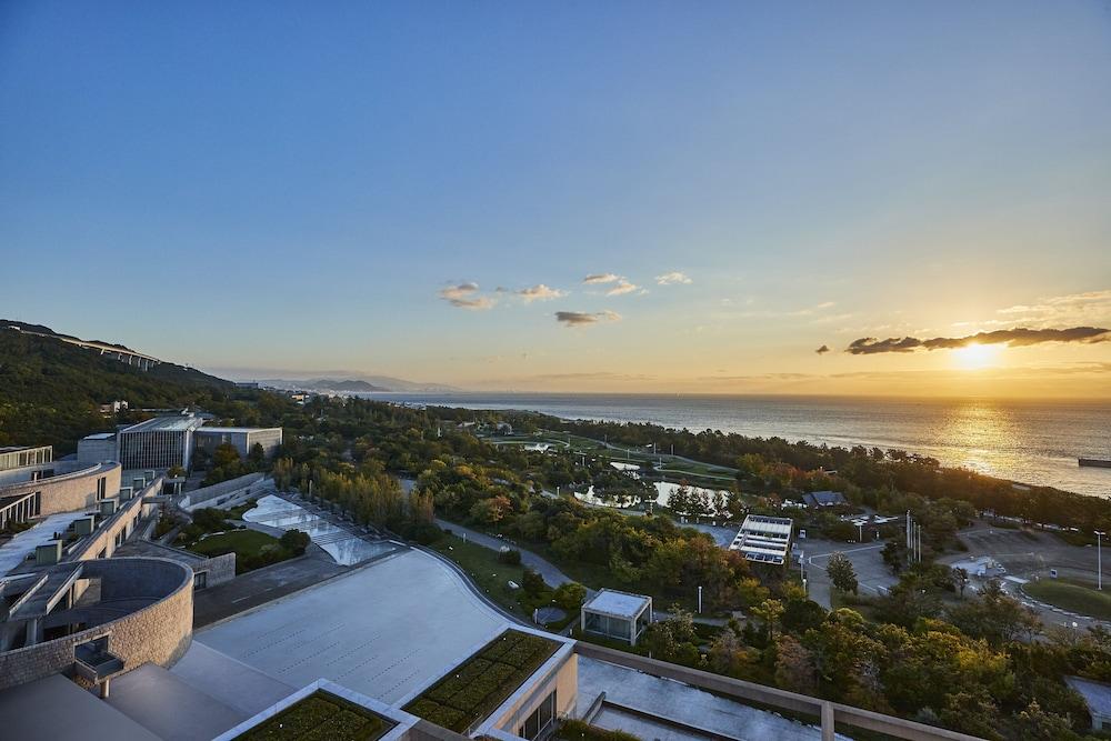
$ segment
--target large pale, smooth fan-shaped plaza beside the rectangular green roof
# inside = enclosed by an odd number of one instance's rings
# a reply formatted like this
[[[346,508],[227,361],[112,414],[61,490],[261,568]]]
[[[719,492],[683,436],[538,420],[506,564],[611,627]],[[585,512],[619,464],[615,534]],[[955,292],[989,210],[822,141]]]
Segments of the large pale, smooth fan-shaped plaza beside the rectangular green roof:
[[[290,687],[324,678],[394,703],[504,625],[453,571],[412,550],[207,628],[193,641]]]

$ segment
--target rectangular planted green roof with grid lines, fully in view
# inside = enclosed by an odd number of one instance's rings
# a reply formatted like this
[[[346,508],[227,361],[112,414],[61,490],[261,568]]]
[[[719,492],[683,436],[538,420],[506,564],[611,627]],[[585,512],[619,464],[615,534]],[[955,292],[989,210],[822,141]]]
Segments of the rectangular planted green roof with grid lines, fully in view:
[[[504,702],[558,648],[556,641],[507,630],[421,692],[404,710],[463,733]]]

